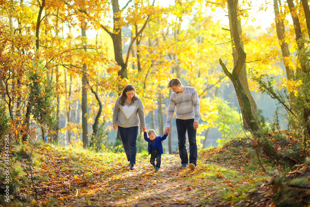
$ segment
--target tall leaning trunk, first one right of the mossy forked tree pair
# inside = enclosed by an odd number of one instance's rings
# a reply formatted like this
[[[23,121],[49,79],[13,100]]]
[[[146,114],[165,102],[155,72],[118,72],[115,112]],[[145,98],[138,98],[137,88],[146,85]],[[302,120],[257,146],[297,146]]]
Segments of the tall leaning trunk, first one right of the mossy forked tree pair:
[[[280,2],[281,0],[273,0],[273,8],[274,8],[274,14],[275,14],[275,22],[276,22],[276,28],[277,28],[277,36],[279,39],[279,43],[281,46],[281,51],[282,51],[282,57],[283,57],[283,62],[286,70],[286,76],[288,80],[293,80],[294,72],[290,68],[290,51],[288,44],[286,43],[286,37],[285,37],[285,28],[284,28],[284,22],[281,19],[279,7],[278,7],[278,1]],[[295,102],[295,95],[294,92],[290,92],[290,103]],[[292,108],[292,104],[290,104]]]

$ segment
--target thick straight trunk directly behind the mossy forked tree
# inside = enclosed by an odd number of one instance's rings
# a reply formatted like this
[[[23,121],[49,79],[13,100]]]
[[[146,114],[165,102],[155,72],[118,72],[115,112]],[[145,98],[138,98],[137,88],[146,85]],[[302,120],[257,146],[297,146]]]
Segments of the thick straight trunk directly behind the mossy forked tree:
[[[228,7],[228,19],[229,19],[230,37],[231,37],[231,39],[233,39],[234,36],[233,36],[233,33],[232,33],[232,20],[231,20],[230,13],[231,13],[231,11],[230,11],[230,8]],[[242,29],[241,29],[241,19],[240,18],[238,18],[237,24],[238,24],[238,32],[239,32],[239,34],[241,34],[242,33]],[[241,45],[242,49],[244,50],[243,41],[240,42],[240,45]],[[236,62],[238,60],[238,54],[237,54],[237,51],[236,51],[236,47],[232,47],[232,56],[233,56],[234,64],[236,64]],[[246,63],[244,63],[242,65],[242,68],[241,68],[241,71],[240,71],[240,74],[239,74],[239,79],[241,81],[241,84],[242,84],[242,87],[243,87],[244,91],[246,92],[246,95],[248,96],[248,98],[250,100],[251,109],[253,111],[254,119],[258,120],[257,106],[256,106],[255,100],[254,100],[254,98],[253,98],[253,96],[252,96],[252,94],[250,92],[250,89],[249,89],[247,73],[246,73]],[[239,98],[238,98],[238,102],[239,102],[239,105],[240,105],[240,108],[241,108],[241,111],[242,111],[242,108],[243,108],[242,100],[239,100]],[[243,115],[242,115],[242,118],[243,118]],[[243,124],[245,124],[245,120],[244,119],[243,119]],[[244,128],[247,128],[247,126],[244,126]]]

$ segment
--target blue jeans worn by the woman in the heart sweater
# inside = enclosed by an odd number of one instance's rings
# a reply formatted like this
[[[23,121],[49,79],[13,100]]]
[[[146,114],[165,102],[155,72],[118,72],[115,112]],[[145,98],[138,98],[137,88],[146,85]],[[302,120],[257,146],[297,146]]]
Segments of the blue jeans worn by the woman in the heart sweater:
[[[127,160],[130,162],[130,164],[135,164],[135,157],[137,155],[137,137],[139,127],[128,127],[128,128],[120,126],[117,127],[121,135]]]

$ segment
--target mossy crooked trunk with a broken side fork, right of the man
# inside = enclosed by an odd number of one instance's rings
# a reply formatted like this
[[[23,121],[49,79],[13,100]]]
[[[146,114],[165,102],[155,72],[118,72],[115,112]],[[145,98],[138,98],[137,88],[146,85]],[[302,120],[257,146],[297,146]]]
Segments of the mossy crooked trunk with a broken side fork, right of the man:
[[[224,73],[228,76],[228,78],[232,81],[232,84],[235,88],[236,94],[238,99],[243,101],[243,108],[242,108],[242,115],[245,116],[245,122],[248,126],[250,126],[251,133],[257,142],[257,144],[263,149],[265,154],[271,158],[275,158],[279,160],[280,154],[277,150],[270,145],[266,137],[260,137],[259,135],[259,128],[257,125],[256,120],[254,119],[253,113],[251,111],[250,101],[243,90],[241,81],[239,79],[239,74],[246,61],[246,53],[243,51],[241,44],[240,44],[240,36],[238,32],[238,22],[237,22],[237,0],[227,0],[228,7],[231,11],[231,20],[232,20],[232,32],[234,38],[234,43],[236,47],[236,51],[238,54],[238,60],[236,64],[234,64],[234,68],[232,73],[230,73],[221,59],[219,59],[219,63],[222,66]]]

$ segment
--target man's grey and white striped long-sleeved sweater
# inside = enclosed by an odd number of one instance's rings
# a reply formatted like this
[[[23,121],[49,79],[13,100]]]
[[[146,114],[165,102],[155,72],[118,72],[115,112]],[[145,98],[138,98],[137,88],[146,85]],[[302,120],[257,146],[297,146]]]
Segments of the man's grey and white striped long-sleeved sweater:
[[[199,97],[193,87],[185,86],[182,93],[173,92],[170,96],[166,127],[170,127],[171,119],[176,107],[175,116],[177,119],[194,119],[199,121]]]

